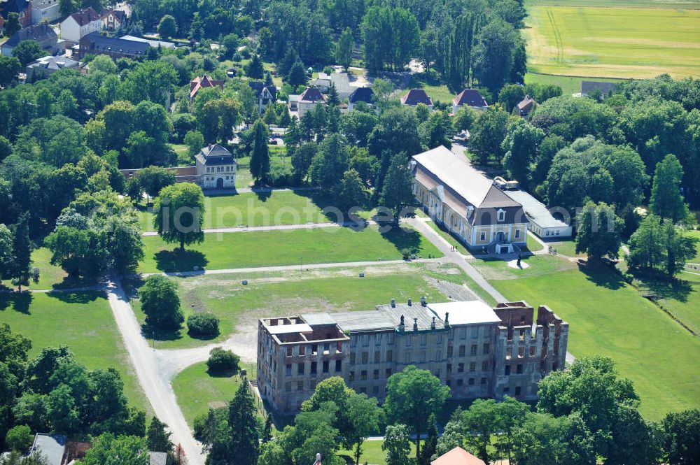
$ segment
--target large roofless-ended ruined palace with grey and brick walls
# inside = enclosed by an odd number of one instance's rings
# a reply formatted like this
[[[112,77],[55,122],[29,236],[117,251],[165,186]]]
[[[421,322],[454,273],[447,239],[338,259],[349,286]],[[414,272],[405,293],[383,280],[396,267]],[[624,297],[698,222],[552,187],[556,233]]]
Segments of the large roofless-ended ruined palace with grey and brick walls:
[[[547,306],[478,300],[378,305],[371,310],[258,320],[258,391],[295,413],[318,382],[339,376],[356,392],[386,396],[409,365],[428,370],[451,399],[537,399],[538,382],[564,368],[568,323]]]

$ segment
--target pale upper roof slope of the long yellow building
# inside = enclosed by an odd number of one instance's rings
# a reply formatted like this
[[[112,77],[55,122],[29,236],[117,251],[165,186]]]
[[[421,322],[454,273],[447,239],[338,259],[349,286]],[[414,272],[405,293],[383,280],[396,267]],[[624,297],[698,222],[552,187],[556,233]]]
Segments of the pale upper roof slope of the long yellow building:
[[[493,181],[474,169],[463,155],[456,155],[444,145],[413,158],[473,206],[482,204],[493,185]]]

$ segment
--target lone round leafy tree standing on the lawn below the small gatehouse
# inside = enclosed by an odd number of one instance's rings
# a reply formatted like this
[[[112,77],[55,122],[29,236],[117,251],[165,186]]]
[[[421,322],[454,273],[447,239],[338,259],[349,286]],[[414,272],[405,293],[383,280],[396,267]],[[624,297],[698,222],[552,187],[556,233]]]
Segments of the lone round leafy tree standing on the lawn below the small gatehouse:
[[[193,183],[179,183],[164,187],[153,203],[158,235],[167,243],[185,245],[202,243],[204,232],[204,194]]]

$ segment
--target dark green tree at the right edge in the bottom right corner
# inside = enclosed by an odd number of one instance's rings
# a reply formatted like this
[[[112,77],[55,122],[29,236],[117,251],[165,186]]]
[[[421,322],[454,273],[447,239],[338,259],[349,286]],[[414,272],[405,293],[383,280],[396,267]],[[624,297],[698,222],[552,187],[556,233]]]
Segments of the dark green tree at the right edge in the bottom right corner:
[[[664,452],[671,465],[700,463],[700,410],[668,413],[661,423]]]

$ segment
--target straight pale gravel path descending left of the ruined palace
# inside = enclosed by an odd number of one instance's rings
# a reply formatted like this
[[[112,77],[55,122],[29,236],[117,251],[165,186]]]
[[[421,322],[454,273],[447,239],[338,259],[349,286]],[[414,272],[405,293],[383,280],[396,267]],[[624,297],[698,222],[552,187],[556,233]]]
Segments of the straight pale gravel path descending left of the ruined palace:
[[[139,384],[151,402],[155,415],[168,425],[172,441],[183,446],[188,464],[204,465],[202,445],[192,436],[175,399],[169,377],[162,371],[155,350],[148,346],[148,341],[141,335],[141,326],[118,279],[107,285],[107,297]]]

